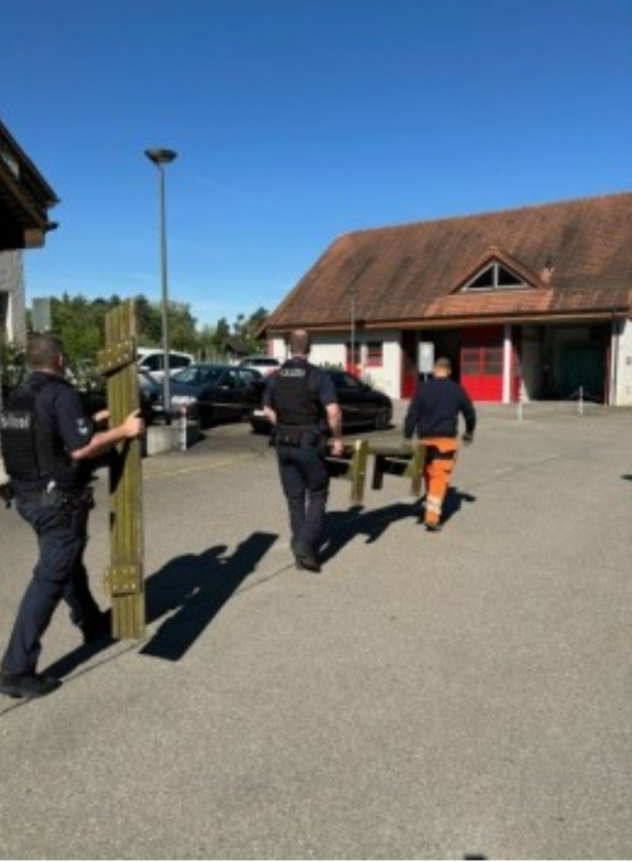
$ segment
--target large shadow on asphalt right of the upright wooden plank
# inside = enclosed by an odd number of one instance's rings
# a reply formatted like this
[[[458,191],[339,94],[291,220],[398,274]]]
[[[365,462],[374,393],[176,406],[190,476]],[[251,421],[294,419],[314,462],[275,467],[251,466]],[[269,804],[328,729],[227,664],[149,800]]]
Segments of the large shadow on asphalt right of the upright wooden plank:
[[[226,545],[184,554],[147,578],[147,622],[168,616],[141,654],[181,659],[277,539],[253,533],[232,554]]]

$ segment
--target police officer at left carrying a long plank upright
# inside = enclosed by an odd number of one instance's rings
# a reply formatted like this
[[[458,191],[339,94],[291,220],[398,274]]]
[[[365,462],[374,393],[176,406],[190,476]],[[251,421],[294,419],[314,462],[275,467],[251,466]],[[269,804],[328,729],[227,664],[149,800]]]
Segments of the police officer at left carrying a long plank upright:
[[[90,461],[143,434],[144,423],[135,411],[117,428],[97,430],[109,413],[93,419],[84,414],[77,390],[65,379],[66,353],[56,336],[31,336],[28,362],[32,374],[9,397],[0,429],[16,509],[34,529],[40,556],[0,665],[0,692],[31,698],[59,686],[36,666],[41,637],[62,598],[84,642],[108,632],[109,615],[92,597],[83,562],[93,506]]]

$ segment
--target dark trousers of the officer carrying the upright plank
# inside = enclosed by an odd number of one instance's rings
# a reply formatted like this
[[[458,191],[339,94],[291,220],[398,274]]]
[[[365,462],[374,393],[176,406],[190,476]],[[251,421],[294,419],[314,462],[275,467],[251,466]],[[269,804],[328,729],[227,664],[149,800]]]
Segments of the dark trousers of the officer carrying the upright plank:
[[[71,620],[82,627],[100,614],[84,566],[91,500],[59,501],[44,506],[38,499],[16,500],[16,509],[34,529],[40,556],[17,612],[2,670],[33,673],[41,653],[41,636],[64,599]]]

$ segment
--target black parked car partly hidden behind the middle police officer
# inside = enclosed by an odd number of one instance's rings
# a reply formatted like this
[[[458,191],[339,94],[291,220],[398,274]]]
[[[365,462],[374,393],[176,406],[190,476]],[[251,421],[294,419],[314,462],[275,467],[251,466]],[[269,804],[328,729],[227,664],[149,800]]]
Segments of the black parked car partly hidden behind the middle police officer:
[[[347,372],[327,369],[338,395],[342,410],[342,430],[346,433],[351,428],[376,428],[384,430],[391,425],[393,405],[391,398],[363,383],[360,378]],[[270,422],[267,421],[261,405],[253,410],[250,424],[255,431],[267,432]]]

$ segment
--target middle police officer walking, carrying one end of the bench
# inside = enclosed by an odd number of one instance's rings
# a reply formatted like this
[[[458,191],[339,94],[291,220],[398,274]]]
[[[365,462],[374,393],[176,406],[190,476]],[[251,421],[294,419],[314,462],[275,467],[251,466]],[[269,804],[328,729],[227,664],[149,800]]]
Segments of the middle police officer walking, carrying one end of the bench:
[[[341,409],[329,376],[308,362],[310,336],[303,329],[291,333],[290,352],[291,359],[269,378],[264,409],[272,422],[297,568],[320,572],[317,553],[329,495],[327,432],[333,453],[341,455]]]

